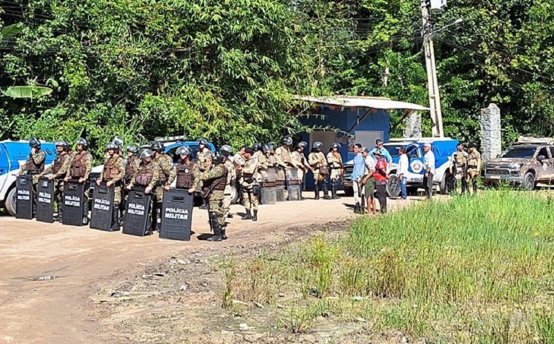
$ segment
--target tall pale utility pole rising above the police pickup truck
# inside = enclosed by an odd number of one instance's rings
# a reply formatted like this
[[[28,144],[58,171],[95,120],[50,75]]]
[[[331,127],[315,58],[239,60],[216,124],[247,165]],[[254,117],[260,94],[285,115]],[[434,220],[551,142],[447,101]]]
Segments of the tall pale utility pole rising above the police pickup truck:
[[[423,17],[423,46],[425,49],[425,66],[427,69],[427,87],[429,89],[429,108],[433,120],[432,134],[434,137],[445,136],[443,131],[443,111],[440,109],[440,95],[438,93],[437,68],[433,47],[433,26],[430,23],[429,3],[421,1],[421,15]]]

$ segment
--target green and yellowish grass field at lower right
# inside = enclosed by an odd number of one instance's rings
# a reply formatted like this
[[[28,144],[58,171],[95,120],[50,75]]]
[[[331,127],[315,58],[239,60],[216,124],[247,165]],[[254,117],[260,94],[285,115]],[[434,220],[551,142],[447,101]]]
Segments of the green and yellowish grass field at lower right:
[[[554,343],[553,241],[547,194],[424,202],[359,218],[346,235],[230,260],[223,306],[263,305],[292,333],[326,319],[419,343]]]

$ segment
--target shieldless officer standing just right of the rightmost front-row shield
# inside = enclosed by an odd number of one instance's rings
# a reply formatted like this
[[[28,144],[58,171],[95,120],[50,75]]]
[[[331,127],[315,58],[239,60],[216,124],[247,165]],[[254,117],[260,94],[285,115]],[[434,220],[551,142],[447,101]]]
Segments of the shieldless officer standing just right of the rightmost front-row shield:
[[[208,215],[213,230],[213,237],[210,237],[208,241],[220,242],[227,239],[223,210],[227,169],[223,164],[223,156],[206,160],[204,168],[206,170],[200,174],[200,179],[202,179],[202,197],[208,200]]]

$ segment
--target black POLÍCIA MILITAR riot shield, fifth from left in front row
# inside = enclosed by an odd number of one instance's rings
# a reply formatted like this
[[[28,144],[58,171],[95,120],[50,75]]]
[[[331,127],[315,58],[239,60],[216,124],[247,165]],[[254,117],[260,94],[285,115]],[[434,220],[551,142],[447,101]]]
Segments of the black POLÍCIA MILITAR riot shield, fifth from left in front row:
[[[152,190],[154,192],[154,190]],[[144,188],[133,188],[127,198],[123,234],[143,237],[150,218],[151,194],[145,194]]]

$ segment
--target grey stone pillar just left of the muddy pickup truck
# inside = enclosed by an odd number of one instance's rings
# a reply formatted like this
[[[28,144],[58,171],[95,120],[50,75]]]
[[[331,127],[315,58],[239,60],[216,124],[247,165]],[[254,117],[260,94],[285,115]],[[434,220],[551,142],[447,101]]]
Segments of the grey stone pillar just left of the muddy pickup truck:
[[[491,103],[488,108],[481,109],[481,157],[483,161],[494,159],[502,152],[502,135],[500,109]]]

